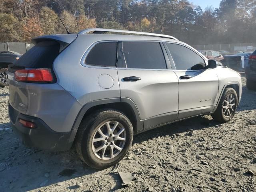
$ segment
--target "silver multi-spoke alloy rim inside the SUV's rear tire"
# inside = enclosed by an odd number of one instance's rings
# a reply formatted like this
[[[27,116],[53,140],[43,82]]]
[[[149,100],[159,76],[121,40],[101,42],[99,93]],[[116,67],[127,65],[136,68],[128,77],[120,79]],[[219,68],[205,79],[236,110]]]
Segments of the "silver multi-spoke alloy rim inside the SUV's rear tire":
[[[110,160],[116,157],[124,148],[126,130],[117,121],[108,121],[96,130],[92,138],[92,151],[101,160]]]

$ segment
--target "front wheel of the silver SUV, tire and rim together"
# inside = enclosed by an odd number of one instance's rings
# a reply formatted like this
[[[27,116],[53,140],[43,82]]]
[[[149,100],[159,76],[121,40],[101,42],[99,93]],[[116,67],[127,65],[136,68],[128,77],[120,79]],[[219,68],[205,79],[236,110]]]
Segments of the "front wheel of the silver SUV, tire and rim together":
[[[227,100],[231,102],[229,102],[228,104]],[[226,123],[230,121],[236,113],[237,105],[238,105],[238,98],[237,98],[236,91],[233,88],[226,88],[224,90],[224,93],[222,94],[222,97],[220,99],[220,102],[218,104],[216,111],[212,114],[212,118],[221,123]],[[230,112],[228,112],[228,110]]]

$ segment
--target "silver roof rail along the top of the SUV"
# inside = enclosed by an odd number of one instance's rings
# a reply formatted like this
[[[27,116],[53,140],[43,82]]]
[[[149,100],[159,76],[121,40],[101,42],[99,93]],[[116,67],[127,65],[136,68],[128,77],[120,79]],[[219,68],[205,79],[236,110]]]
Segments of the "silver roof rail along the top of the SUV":
[[[157,36],[157,37],[163,37],[163,38],[178,40],[177,38],[175,38],[173,36],[170,36],[170,35],[138,32],[138,31],[117,30],[117,29],[101,29],[101,28],[85,29],[85,30],[80,31],[78,34],[86,34],[86,33],[89,33],[89,32],[96,33],[96,34],[104,34],[104,33],[107,33],[107,32],[130,33],[130,34],[141,34],[141,35],[146,35],[146,36]]]

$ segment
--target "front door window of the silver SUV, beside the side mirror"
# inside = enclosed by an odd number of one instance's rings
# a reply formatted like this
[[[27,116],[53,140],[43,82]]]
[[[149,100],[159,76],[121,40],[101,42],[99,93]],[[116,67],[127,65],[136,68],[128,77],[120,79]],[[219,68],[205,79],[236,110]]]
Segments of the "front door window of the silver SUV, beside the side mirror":
[[[177,70],[191,70],[196,64],[205,66],[204,59],[185,46],[166,43]]]

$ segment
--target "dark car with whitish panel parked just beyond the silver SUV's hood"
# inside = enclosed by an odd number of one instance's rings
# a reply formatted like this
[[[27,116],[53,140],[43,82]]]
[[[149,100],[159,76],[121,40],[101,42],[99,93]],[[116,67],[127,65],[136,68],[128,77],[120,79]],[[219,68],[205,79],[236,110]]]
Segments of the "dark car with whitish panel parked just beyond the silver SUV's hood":
[[[222,64],[236,71],[244,72],[248,65],[250,53],[237,53],[234,55],[224,55]]]

